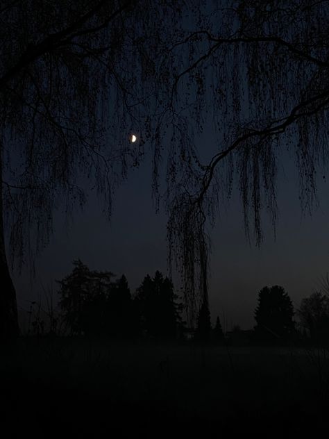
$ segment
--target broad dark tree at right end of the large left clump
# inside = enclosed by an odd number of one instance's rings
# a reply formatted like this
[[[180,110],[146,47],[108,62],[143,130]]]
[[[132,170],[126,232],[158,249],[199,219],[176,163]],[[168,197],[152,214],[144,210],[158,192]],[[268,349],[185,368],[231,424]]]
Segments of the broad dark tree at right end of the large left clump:
[[[140,312],[141,326],[151,338],[176,338],[183,324],[182,304],[176,300],[174,285],[170,279],[157,271],[151,279],[145,276],[142,285],[137,288],[135,301]]]

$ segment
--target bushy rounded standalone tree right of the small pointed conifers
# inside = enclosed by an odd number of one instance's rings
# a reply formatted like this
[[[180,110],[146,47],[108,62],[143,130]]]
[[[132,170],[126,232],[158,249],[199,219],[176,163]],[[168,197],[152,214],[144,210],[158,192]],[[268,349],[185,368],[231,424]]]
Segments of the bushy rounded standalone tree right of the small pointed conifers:
[[[255,309],[255,338],[260,341],[282,342],[294,329],[294,306],[285,289],[279,285],[264,287],[258,293]]]

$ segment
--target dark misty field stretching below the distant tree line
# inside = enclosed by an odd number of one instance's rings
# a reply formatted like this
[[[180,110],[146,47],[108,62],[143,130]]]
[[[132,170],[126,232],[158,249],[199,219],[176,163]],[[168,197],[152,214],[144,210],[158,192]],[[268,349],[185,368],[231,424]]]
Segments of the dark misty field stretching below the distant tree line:
[[[6,438],[319,437],[329,351],[24,340],[3,349]]]

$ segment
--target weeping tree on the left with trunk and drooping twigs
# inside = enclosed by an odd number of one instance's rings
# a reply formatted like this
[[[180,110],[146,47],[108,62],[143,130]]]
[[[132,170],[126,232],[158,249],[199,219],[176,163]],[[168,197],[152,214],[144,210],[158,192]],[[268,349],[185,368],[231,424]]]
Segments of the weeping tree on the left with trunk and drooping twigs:
[[[128,138],[151,115],[149,56],[171,3],[1,2],[1,336],[18,329],[8,256],[20,267],[33,260],[56,208],[83,206],[87,179],[110,217],[116,185],[139,164],[144,142]]]

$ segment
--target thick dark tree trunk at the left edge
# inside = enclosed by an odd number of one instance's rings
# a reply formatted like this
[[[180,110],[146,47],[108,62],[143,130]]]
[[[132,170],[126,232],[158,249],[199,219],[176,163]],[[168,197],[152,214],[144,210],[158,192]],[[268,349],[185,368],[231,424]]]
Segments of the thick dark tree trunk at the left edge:
[[[0,340],[9,340],[19,334],[16,291],[9,272],[3,229],[3,185],[0,151]]]

